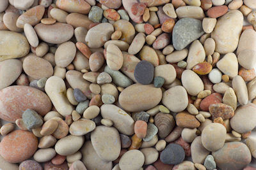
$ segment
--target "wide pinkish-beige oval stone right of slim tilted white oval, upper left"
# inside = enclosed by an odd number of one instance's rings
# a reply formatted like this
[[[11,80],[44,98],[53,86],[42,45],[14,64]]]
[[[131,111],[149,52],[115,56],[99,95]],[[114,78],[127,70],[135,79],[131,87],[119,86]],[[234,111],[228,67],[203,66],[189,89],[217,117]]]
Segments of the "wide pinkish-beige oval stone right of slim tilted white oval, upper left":
[[[61,30],[61,31],[60,31]],[[52,25],[37,24],[35,26],[38,38],[47,43],[60,44],[68,41],[74,35],[72,25],[57,22]]]

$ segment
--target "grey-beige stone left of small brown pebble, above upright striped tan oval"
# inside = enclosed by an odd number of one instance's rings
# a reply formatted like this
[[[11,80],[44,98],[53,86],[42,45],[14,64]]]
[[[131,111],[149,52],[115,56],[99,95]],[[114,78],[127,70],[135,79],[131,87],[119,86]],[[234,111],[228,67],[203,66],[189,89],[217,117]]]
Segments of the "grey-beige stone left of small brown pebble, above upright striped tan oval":
[[[90,48],[100,48],[111,38],[113,25],[102,23],[92,27],[86,34],[85,41]]]

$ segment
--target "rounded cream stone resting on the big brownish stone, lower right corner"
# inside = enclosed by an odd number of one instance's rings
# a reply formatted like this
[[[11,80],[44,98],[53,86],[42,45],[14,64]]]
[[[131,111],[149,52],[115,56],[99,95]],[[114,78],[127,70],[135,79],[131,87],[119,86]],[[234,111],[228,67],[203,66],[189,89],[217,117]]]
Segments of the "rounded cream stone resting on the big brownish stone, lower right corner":
[[[226,134],[227,130],[223,125],[209,124],[202,131],[202,144],[211,152],[219,150],[225,143]]]

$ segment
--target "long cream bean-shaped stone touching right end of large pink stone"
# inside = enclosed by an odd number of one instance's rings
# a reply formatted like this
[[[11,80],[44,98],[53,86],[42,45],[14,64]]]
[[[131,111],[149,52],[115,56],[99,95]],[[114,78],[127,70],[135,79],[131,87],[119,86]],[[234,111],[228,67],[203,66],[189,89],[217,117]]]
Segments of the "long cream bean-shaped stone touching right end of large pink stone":
[[[45,92],[50,97],[56,110],[63,116],[70,115],[73,111],[72,104],[66,96],[65,82],[58,76],[51,76],[45,83]]]

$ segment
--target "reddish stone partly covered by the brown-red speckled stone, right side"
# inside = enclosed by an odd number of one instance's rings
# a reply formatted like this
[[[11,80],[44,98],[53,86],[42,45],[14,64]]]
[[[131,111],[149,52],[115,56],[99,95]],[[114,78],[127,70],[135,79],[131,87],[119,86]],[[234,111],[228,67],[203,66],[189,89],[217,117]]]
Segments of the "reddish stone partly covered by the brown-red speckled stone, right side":
[[[202,111],[209,111],[209,106],[211,104],[222,103],[222,96],[219,93],[213,93],[207,97],[205,97],[201,103],[200,108]]]

